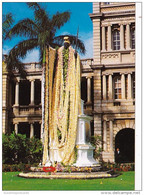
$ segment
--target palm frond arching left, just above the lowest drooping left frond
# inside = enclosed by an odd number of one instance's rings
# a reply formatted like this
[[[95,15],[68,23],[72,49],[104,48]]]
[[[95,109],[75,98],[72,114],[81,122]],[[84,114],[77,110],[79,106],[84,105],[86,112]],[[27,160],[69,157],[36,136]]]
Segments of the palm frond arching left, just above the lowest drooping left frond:
[[[20,35],[25,37],[34,38],[38,34],[38,26],[33,20],[26,18],[19,21],[10,31],[7,33],[6,38],[11,38],[14,35]]]

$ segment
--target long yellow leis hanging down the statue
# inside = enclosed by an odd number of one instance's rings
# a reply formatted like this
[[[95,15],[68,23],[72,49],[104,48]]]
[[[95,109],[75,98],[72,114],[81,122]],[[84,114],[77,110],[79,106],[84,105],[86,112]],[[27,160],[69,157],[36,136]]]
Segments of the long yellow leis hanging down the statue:
[[[81,112],[80,59],[78,55],[77,62],[75,62],[74,50],[70,46],[66,85],[64,86],[63,49],[64,47],[61,47],[58,50],[58,63],[54,81],[52,80],[52,62],[55,52],[51,52],[51,55],[49,55],[49,60],[51,59],[51,63],[49,63],[49,84],[46,84],[46,88],[49,88],[48,129],[50,147],[57,147],[62,162],[65,165],[70,165],[75,160],[74,147],[77,133],[78,114]],[[48,75],[46,74],[46,76]],[[46,95],[47,93],[45,93],[45,98],[47,99]],[[46,117],[47,115],[45,114],[45,118]],[[47,126],[47,124],[45,124],[45,126]],[[61,133],[60,140],[58,137],[58,131]]]

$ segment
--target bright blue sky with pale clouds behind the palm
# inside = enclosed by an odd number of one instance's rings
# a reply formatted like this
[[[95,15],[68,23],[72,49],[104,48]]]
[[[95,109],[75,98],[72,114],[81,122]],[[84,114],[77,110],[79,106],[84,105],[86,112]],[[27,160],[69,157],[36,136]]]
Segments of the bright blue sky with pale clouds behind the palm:
[[[70,11],[70,20],[65,23],[60,30],[57,31],[56,35],[64,34],[77,34],[77,29],[79,27],[79,39],[81,39],[86,47],[86,54],[80,55],[83,58],[93,57],[93,27],[92,21],[89,17],[89,13],[92,13],[92,3],[85,2],[45,2],[40,3],[46,8],[47,12],[52,16],[57,11],[64,12]],[[26,3],[23,2],[3,2],[2,3],[2,14],[7,14],[11,12],[14,16],[14,24],[24,18],[33,18],[33,11],[28,8]],[[12,40],[6,40],[3,42],[3,54],[8,54],[9,50],[17,44],[19,41],[24,40],[24,37],[15,37]],[[23,62],[38,62],[39,61],[39,51],[38,49],[33,50],[29,53]]]

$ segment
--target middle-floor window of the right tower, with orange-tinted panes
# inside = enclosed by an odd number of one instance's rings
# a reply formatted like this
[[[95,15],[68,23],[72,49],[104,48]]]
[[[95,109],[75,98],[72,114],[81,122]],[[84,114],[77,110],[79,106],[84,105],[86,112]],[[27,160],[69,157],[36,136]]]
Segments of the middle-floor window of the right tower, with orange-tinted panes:
[[[114,79],[114,99],[121,99],[121,77]]]

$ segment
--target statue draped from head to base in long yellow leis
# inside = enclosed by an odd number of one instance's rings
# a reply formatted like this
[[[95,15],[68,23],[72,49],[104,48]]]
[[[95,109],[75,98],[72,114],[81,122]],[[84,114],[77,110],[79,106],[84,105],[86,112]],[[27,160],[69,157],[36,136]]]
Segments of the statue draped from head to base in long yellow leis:
[[[56,57],[57,56],[57,57]],[[78,114],[81,112],[80,58],[69,37],[57,51],[48,47],[43,66],[43,162],[75,161]]]

